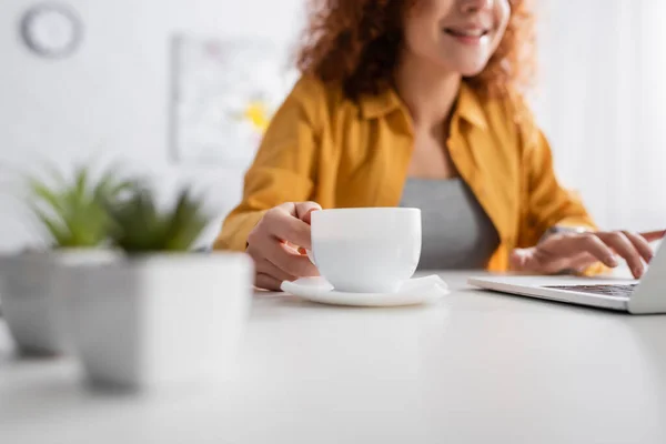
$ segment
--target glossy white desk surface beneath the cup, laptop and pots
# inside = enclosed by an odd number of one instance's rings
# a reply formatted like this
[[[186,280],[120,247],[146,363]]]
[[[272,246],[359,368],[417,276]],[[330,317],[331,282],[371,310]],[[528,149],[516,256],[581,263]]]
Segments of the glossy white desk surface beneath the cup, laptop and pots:
[[[0,443],[666,443],[666,316],[464,289],[412,309],[258,296],[226,386],[93,395],[0,333]]]

